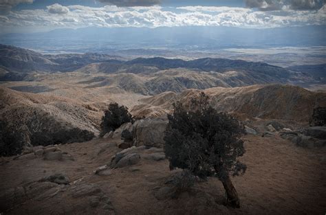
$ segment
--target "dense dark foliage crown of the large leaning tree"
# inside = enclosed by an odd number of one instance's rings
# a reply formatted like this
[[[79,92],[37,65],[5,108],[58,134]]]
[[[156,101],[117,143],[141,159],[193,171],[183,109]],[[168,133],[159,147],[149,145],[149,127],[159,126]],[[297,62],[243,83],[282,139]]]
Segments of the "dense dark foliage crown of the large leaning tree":
[[[240,139],[244,126],[231,115],[208,106],[204,93],[191,102],[189,109],[174,104],[168,118],[164,150],[171,168],[188,169],[198,177],[218,177],[221,181],[229,174],[246,171],[246,165],[237,160],[245,152]]]

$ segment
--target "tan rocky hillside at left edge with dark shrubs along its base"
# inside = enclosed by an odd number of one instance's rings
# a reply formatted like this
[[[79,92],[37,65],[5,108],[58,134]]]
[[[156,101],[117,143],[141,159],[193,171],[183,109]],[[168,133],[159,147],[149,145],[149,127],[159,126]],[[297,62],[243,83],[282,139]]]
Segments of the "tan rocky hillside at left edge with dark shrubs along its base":
[[[0,88],[0,151],[84,142],[98,135],[102,111],[74,100]]]

